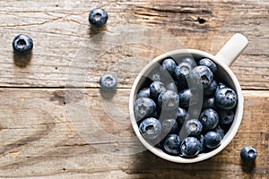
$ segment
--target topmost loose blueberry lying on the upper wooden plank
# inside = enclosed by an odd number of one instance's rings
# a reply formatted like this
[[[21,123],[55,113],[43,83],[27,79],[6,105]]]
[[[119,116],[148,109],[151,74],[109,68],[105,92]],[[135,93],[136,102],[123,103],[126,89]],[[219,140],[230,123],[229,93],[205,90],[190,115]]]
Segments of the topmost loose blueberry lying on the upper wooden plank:
[[[108,21],[108,13],[104,9],[93,9],[89,14],[89,21],[92,26],[100,28]]]

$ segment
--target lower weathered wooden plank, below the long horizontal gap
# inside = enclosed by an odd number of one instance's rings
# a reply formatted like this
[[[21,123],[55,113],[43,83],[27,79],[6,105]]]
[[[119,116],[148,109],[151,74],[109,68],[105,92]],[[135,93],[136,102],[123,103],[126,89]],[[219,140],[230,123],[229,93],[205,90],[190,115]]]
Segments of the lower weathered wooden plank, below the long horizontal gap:
[[[117,90],[105,100],[98,89],[66,94],[1,89],[0,177],[268,178],[267,91],[245,90],[245,113],[235,139],[219,155],[192,165],[138,152],[141,144],[128,118],[129,92]],[[92,133],[92,119],[104,134]],[[106,139],[105,132],[112,137]],[[255,167],[241,165],[239,150],[245,145],[257,149]]]

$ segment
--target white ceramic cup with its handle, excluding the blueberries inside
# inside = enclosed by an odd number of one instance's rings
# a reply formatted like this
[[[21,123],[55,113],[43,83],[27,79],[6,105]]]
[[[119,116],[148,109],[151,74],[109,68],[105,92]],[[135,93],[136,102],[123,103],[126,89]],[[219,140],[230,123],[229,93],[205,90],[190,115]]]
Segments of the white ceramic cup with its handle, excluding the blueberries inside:
[[[166,160],[177,162],[177,163],[195,163],[199,161],[203,161],[207,158],[212,158],[214,155],[221,152],[230,141],[234,138],[236,132],[239,129],[239,125],[242,120],[243,115],[243,106],[244,106],[244,98],[242,95],[241,87],[239,85],[239,81],[236,78],[235,74],[230,70],[230,64],[232,64],[235,59],[239,56],[239,54],[247,47],[248,40],[242,34],[235,34],[230,40],[221,48],[221,50],[217,53],[217,55],[211,55],[201,50],[196,49],[178,49],[174,51],[170,51],[168,53],[162,54],[154,58],[149,64],[147,64],[143,70],[138,74],[137,78],[134,81],[134,85],[132,87],[130,98],[129,98],[129,112],[131,123],[134,128],[134,132],[138,139],[143,143],[146,149],[149,149],[155,155],[160,158],[164,158]],[[238,94],[238,104],[235,110],[235,118],[233,123],[230,126],[230,130],[225,134],[221,141],[221,145],[213,149],[208,153],[199,154],[195,158],[181,158],[179,156],[171,156],[161,149],[158,149],[152,146],[148,141],[143,139],[143,136],[139,132],[139,126],[136,123],[136,119],[134,116],[134,102],[136,99],[136,95],[138,90],[141,89],[143,85],[143,81],[148,76],[149,72],[152,72],[152,69],[156,67],[157,64],[160,64],[162,60],[168,57],[173,57],[174,59],[180,58],[186,55],[193,55],[198,57],[207,57],[213,60],[215,64],[218,65],[218,75],[221,76],[221,79],[229,84],[229,86],[235,90]]]

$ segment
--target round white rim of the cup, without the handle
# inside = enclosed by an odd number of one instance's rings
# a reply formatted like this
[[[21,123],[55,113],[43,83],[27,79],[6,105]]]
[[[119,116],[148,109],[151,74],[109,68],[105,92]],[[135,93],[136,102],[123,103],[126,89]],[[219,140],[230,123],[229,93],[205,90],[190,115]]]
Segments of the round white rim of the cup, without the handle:
[[[173,56],[173,55],[201,55],[201,56],[212,59],[214,63],[216,63],[218,66],[221,66],[221,68],[229,74],[230,79],[232,80],[232,83],[235,86],[234,90],[236,90],[236,92],[238,94],[238,104],[237,104],[237,108],[236,108],[235,119],[230,126],[230,130],[225,134],[225,136],[221,140],[221,145],[218,148],[213,149],[212,151],[210,151],[208,153],[199,154],[195,158],[182,158],[180,156],[171,156],[171,155],[165,153],[164,151],[162,151],[161,149],[158,149],[158,148],[152,146],[148,141],[143,139],[143,136],[139,132],[139,127],[138,127],[138,124],[136,123],[136,119],[134,116],[134,102],[135,102],[137,91],[139,90],[139,87],[140,87],[138,85],[143,80],[143,74],[148,72],[148,70],[151,69],[154,64],[160,63],[161,60],[168,58],[170,56]],[[239,125],[241,124],[242,117],[243,117],[243,110],[244,110],[244,98],[243,98],[242,90],[241,90],[241,87],[239,85],[239,81],[238,81],[237,77],[230,70],[230,67],[228,65],[224,64],[223,62],[221,62],[221,60],[218,59],[215,55],[212,55],[212,54],[209,54],[207,52],[204,52],[202,50],[197,50],[197,49],[173,50],[173,51],[169,51],[167,53],[158,55],[157,57],[152,59],[152,61],[149,64],[147,64],[146,66],[144,66],[143,70],[141,72],[139,72],[139,74],[135,78],[134,84],[132,86],[132,90],[130,92],[130,97],[129,97],[130,120],[131,120],[133,129],[134,129],[134,132],[135,132],[136,136],[138,137],[139,141],[141,141],[143,143],[143,146],[146,149],[149,149],[153,154],[159,156],[160,158],[169,160],[171,162],[176,162],[176,163],[200,162],[200,161],[203,161],[205,159],[212,158],[213,156],[215,156],[216,154],[221,152],[222,149],[225,149],[230,144],[230,141],[234,138],[234,136],[236,135],[236,133],[239,130]]]

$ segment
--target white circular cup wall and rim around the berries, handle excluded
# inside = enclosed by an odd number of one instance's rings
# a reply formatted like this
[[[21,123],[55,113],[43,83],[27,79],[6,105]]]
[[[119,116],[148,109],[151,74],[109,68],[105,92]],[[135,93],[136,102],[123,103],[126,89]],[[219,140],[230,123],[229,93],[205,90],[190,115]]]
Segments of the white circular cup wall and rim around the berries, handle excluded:
[[[202,59],[206,57],[213,60],[213,62],[217,64],[218,66],[218,71],[215,72],[214,75],[217,75],[217,78],[220,79],[221,81],[225,81],[225,83],[227,83],[230,86],[230,88],[235,90],[236,93],[238,94],[238,103],[235,109],[234,121],[230,125],[229,131],[226,132],[225,136],[223,137],[221,141],[221,145],[218,148],[213,149],[212,151],[208,153],[201,153],[195,158],[181,158],[179,156],[171,156],[163,152],[161,149],[152,146],[151,143],[143,139],[143,136],[139,132],[139,127],[138,127],[138,124],[136,123],[136,119],[134,116],[134,102],[135,102],[137,93],[139,90],[141,90],[143,83],[146,80],[146,77],[149,76],[150,72],[152,72],[152,70],[156,68],[157,65],[160,65],[162,60],[168,57],[173,58],[177,62],[177,59],[180,59],[185,56],[193,57],[194,59]],[[235,74],[231,72],[229,66],[222,63],[219,59],[216,58],[216,56],[208,54],[204,51],[195,50],[195,49],[175,50],[175,51],[171,51],[171,52],[159,55],[156,58],[154,58],[149,64],[147,64],[143,68],[143,70],[136,77],[131,93],[130,93],[130,98],[129,98],[129,111],[130,111],[131,123],[133,125],[134,132],[136,136],[138,137],[138,139],[143,143],[146,149],[149,149],[155,155],[159,156],[160,158],[164,158],[166,160],[177,162],[177,163],[195,163],[195,162],[203,161],[207,158],[212,158],[214,155],[221,152],[221,150],[224,149],[230,143],[230,141],[234,138],[236,132],[238,132],[239,130],[239,125],[241,123],[242,115],[243,115],[243,105],[244,105],[244,98],[243,98],[242,91],[239,85],[239,81],[236,78]]]

